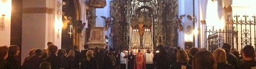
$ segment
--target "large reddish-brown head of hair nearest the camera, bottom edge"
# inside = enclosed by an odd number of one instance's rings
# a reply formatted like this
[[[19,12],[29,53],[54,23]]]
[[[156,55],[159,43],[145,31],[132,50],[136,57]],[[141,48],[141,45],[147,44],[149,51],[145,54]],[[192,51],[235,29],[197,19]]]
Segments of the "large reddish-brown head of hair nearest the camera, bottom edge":
[[[209,51],[203,50],[194,55],[192,67],[193,69],[216,69],[217,63]]]

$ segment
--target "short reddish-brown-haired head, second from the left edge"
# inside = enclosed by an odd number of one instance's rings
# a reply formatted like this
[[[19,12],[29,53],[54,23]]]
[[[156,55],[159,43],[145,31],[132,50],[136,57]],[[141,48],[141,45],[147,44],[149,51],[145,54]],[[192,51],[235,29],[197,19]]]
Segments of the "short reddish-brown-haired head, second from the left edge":
[[[20,48],[16,45],[11,45],[8,49],[9,56],[12,56],[12,57],[18,56],[19,53],[20,53]]]

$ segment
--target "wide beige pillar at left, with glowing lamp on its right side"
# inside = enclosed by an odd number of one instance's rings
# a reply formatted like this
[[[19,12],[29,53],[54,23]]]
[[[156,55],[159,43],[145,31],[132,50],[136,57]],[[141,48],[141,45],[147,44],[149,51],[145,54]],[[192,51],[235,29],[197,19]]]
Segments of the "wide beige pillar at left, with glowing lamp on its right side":
[[[58,2],[62,0],[22,0],[22,63],[29,49],[47,48],[47,42],[61,49],[62,6]]]

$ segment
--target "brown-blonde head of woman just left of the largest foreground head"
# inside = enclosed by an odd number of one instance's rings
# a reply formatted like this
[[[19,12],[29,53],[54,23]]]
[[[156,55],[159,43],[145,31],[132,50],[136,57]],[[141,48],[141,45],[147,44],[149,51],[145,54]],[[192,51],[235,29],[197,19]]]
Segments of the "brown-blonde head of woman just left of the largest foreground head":
[[[179,49],[179,51],[177,52],[177,61],[178,62],[188,62],[189,61],[189,56],[185,50]]]

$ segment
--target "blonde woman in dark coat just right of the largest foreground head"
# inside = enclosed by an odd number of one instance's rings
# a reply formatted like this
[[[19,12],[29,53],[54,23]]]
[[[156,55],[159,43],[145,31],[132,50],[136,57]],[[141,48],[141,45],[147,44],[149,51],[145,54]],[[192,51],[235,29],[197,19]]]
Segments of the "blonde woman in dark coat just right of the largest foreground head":
[[[234,66],[228,64],[226,51],[224,49],[216,49],[213,52],[213,56],[217,62],[217,69],[235,69]]]

